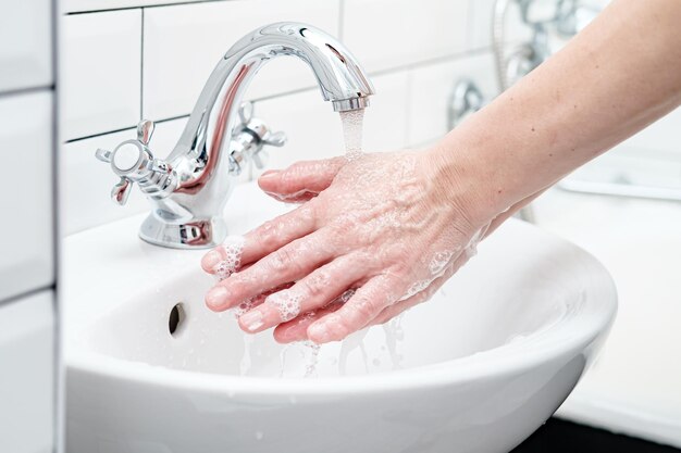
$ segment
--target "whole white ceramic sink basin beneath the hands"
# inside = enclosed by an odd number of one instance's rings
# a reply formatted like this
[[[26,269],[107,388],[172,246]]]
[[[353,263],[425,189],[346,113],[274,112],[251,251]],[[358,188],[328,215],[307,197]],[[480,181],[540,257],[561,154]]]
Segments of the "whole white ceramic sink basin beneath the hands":
[[[255,186],[239,234],[287,206]],[[245,336],[203,306],[203,252],[136,237],[144,216],[63,244],[70,453],[508,452],[567,398],[616,291],[579,248],[518,221],[425,304],[319,351]]]

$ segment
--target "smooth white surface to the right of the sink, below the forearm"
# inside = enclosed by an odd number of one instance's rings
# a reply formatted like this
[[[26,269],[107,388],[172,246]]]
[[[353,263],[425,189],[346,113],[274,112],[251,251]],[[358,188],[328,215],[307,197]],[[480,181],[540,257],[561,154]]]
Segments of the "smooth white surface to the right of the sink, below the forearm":
[[[595,366],[557,415],[681,446],[681,204],[552,189],[540,227],[611,273],[619,313]]]

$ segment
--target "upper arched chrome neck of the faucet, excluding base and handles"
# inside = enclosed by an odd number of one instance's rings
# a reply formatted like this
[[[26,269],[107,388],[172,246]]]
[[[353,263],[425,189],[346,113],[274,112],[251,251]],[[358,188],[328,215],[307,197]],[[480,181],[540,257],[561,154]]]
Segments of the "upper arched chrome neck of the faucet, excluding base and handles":
[[[277,56],[297,56],[305,61],[314,74],[323,99],[332,101],[335,111],[369,105],[373,86],[355,56],[336,39],[297,23],[258,28],[238,40],[218,63],[169,156],[171,164],[187,156],[208,160],[206,172],[182,181],[181,190],[196,190],[197,185],[202,186],[201,180],[210,179],[214,172],[228,169],[222,163],[228,158],[223,148],[230,146],[244,93],[258,70]]]

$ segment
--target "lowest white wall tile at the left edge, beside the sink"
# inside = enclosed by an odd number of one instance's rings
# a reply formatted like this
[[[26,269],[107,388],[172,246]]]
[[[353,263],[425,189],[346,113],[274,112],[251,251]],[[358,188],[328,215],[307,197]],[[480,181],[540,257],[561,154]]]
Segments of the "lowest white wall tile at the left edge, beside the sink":
[[[0,305],[0,451],[53,451],[54,305],[51,291]]]

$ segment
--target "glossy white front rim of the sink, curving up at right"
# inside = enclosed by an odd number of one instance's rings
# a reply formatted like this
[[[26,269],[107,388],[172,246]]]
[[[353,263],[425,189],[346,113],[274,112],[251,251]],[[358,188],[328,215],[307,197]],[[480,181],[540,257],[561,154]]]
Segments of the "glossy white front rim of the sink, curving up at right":
[[[511,221],[534,234],[553,236],[534,226]],[[552,237],[554,241],[566,242]],[[187,389],[199,392],[230,394],[347,394],[348,392],[376,392],[416,390],[424,387],[465,383],[475,379],[490,379],[517,375],[541,366],[552,360],[570,360],[582,353],[599,337],[607,334],[617,313],[615,284],[605,267],[591,254],[578,249],[591,267],[594,284],[591,293],[579,307],[560,315],[523,339],[505,343],[471,355],[431,365],[416,366],[389,373],[370,375],[329,376],[319,378],[278,378],[211,374],[191,369],[177,369],[144,362],[120,358],[92,350],[81,349],[65,354],[69,373],[85,372],[127,381],[144,382]],[[260,335],[269,335],[268,332]],[[73,341],[73,340],[72,340]],[[528,343],[532,343],[528,348]]]

